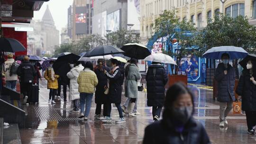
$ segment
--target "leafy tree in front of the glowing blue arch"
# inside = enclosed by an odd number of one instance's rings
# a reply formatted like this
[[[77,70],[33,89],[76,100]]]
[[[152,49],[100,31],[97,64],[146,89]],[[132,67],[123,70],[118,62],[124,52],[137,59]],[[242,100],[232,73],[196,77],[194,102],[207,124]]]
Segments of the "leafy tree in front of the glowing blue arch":
[[[180,22],[175,16],[174,11],[165,10],[160,17],[156,18],[153,30],[154,36],[152,36],[149,41],[154,39],[153,41],[155,42],[155,39],[163,39],[163,43],[165,43],[166,48],[165,51],[163,47],[163,52],[177,58],[176,62],[178,67],[176,67],[176,73],[179,70],[181,59],[185,54],[198,54],[196,52],[197,50],[194,49],[196,34],[195,27],[191,22]],[[165,37],[165,40],[163,37]],[[172,45],[174,38],[177,39],[177,47]]]

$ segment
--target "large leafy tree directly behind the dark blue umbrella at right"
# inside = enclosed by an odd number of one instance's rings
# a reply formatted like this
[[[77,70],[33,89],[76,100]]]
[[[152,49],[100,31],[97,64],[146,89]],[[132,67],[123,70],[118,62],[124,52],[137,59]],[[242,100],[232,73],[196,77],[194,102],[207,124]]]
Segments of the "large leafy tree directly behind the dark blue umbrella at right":
[[[203,54],[214,46],[233,45],[243,47],[248,53],[256,53],[256,27],[247,17],[231,18],[222,14],[208,22],[197,36],[199,53]]]

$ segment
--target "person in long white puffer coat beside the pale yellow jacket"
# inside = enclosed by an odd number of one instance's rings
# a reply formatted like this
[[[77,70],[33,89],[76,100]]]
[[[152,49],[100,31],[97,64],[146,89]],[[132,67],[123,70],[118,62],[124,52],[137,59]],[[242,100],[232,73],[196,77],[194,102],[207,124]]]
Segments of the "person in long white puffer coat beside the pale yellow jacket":
[[[67,77],[70,79],[70,92],[69,92],[69,98],[73,101],[73,110],[70,112],[79,113],[80,109],[80,93],[78,91],[78,83],[77,78],[79,76],[79,73],[83,70],[83,66],[80,64],[80,62],[76,62],[74,64],[70,64],[70,72],[67,73]]]

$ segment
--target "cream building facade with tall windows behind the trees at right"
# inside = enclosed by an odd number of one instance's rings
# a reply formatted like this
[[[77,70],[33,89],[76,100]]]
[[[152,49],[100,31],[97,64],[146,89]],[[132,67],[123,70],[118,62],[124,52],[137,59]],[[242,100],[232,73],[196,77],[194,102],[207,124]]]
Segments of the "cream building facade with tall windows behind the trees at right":
[[[224,1],[224,0],[222,0]],[[247,16],[250,24],[256,25],[256,0],[140,0],[141,5],[141,43],[146,45],[152,35],[152,27],[164,10],[176,11],[180,20],[191,20],[195,27],[206,27],[208,19],[220,12],[237,17]]]

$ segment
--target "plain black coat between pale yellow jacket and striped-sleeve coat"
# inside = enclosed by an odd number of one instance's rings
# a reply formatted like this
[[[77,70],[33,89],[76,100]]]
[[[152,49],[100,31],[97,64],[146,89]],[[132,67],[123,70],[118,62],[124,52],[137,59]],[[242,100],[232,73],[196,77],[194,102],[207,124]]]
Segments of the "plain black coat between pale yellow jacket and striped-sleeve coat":
[[[110,71],[110,68],[106,67],[105,70],[108,72]],[[104,87],[107,86],[108,77],[106,76],[106,74],[104,74],[104,71],[101,71],[98,68],[94,72],[97,75],[99,81],[95,91],[95,103],[102,104],[105,103],[107,100],[107,95],[104,94]]]

